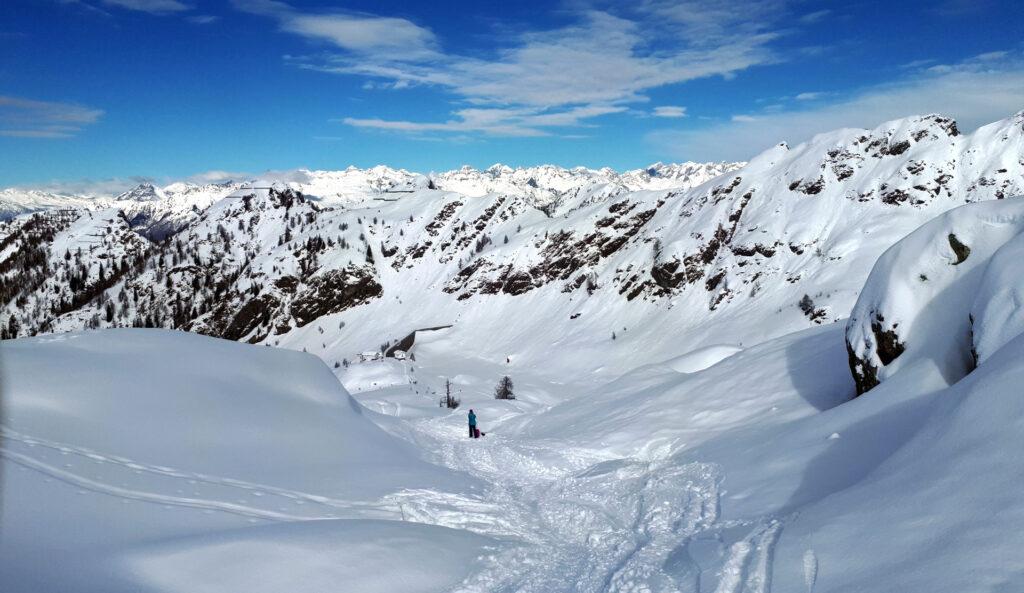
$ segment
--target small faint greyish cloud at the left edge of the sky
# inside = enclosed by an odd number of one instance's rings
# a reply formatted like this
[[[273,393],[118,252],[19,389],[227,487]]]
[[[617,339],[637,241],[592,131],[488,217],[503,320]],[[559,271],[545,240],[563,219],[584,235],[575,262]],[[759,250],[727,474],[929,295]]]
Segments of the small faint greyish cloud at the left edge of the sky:
[[[0,95],[0,136],[70,138],[99,121],[102,110]]]

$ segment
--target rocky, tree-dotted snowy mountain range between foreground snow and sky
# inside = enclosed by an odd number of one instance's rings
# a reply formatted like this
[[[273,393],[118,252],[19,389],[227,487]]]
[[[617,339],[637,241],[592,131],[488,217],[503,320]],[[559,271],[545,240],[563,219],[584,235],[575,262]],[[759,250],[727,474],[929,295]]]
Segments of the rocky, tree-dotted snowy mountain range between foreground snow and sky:
[[[970,135],[940,116],[839,130],[690,188],[634,190],[608,170],[502,166],[142,187],[116,203],[159,205],[151,220],[184,224],[171,243],[153,246],[143,264],[119,264],[109,289],[66,310],[54,304],[74,300],[61,246],[82,239],[79,226],[54,227],[68,237],[49,246],[53,272],[18,290],[20,305],[8,298],[2,314],[22,335],[155,325],[312,343],[332,362],[421,327],[469,323],[493,336],[516,319],[519,334],[467,347],[505,358],[517,335],[557,329],[572,351],[624,351],[611,366],[577,355],[567,365],[625,372],[640,361],[623,328],[668,345],[668,323],[696,347],[845,316],[876,258],[909,230],[957,205],[1024,192],[1022,122],[1024,113]],[[714,170],[692,169],[643,175],[692,181]],[[129,223],[141,215],[121,211]],[[4,241],[16,244],[27,220],[7,223]],[[84,284],[95,285],[101,255],[94,247],[74,260]],[[370,323],[378,319],[401,322]],[[310,334],[319,329],[330,339]]]

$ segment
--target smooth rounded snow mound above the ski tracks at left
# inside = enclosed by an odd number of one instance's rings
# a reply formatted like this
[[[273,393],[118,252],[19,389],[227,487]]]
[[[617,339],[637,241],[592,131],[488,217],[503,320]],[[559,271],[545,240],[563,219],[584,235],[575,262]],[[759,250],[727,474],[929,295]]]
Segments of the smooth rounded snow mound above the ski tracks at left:
[[[34,437],[344,497],[438,477],[308,354],[113,330],[4,342],[3,356],[5,423]]]

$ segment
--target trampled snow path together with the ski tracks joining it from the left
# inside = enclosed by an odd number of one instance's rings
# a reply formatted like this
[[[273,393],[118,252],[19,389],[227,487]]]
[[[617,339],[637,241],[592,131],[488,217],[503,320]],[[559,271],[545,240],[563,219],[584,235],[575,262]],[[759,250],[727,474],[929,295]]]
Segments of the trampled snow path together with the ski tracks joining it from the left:
[[[486,493],[406,490],[376,502],[347,501],[145,464],[8,427],[0,429],[0,457],[82,494],[227,512],[252,521],[408,520],[510,544],[486,550],[482,569],[458,593],[771,590],[772,549],[782,523],[720,520],[720,478],[713,465],[609,459],[596,451],[495,434],[469,439],[442,418],[410,426],[416,440],[438,452],[441,464],[489,484]],[[172,491],[177,494],[167,494]],[[726,545],[725,531],[746,535]],[[724,550],[718,566],[701,566],[690,557],[695,539]]]

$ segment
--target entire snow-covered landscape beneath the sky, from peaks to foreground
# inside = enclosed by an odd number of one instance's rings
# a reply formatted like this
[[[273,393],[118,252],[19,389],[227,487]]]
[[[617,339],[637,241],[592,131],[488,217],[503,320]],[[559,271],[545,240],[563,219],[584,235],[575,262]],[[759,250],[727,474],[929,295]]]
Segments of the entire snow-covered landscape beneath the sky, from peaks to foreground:
[[[1024,590],[1022,195],[1024,112],[35,196],[0,590]]]

